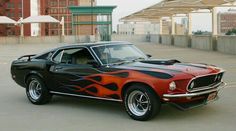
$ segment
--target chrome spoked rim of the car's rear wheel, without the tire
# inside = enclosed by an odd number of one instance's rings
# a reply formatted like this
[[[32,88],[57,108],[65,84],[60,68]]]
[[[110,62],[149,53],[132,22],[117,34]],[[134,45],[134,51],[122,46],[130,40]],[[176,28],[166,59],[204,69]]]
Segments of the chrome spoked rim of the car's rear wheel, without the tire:
[[[38,100],[42,95],[42,86],[36,79],[33,79],[29,84],[29,95],[34,100]]]

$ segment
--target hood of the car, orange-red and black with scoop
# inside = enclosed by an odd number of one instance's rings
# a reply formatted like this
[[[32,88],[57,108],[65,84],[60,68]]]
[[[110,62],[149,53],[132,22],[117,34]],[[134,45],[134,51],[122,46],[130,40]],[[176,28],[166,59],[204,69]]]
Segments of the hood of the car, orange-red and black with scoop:
[[[177,73],[199,76],[216,73],[219,69],[207,64],[181,63],[177,60],[144,60],[118,66],[120,69],[163,72],[170,75]]]

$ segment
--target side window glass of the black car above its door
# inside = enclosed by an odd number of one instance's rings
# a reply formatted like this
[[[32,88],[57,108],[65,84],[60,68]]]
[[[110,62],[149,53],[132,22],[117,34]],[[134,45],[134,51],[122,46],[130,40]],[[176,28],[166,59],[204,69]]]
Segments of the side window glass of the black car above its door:
[[[86,48],[72,48],[61,50],[53,60],[64,64],[86,65],[94,61],[94,58]]]

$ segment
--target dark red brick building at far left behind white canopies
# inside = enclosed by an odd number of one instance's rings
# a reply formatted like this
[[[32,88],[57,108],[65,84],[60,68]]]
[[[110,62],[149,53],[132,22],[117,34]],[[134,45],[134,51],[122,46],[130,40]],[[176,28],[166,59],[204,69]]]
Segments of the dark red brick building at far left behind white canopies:
[[[22,9],[23,7],[23,9]],[[0,0],[0,16],[7,16],[15,21],[30,16],[30,0]],[[12,24],[0,25],[0,36],[19,36],[20,27]],[[24,36],[31,35],[30,24],[24,24]]]

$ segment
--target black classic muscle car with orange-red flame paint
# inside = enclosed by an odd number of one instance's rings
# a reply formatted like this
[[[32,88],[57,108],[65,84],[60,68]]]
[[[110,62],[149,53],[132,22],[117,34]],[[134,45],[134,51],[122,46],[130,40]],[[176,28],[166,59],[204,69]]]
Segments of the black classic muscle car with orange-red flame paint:
[[[217,100],[226,85],[219,67],[150,57],[128,42],[68,45],[20,57],[11,74],[33,104],[53,95],[117,101],[140,121],[165,103],[186,110]]]

